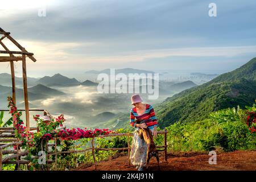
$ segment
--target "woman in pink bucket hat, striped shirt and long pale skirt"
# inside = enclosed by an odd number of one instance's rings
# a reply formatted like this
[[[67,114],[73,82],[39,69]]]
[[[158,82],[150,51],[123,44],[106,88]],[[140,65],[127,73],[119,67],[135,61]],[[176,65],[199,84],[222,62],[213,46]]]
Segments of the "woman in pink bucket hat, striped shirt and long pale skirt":
[[[155,117],[154,108],[149,104],[144,104],[139,94],[131,96],[131,105],[134,107],[130,113],[130,125],[135,127],[135,131],[131,145],[130,161],[131,164],[136,166],[138,171],[143,171],[143,168],[146,167],[147,143],[139,137],[138,131],[148,127],[154,137],[157,138],[156,127],[158,122]],[[135,118],[137,119],[136,121]]]

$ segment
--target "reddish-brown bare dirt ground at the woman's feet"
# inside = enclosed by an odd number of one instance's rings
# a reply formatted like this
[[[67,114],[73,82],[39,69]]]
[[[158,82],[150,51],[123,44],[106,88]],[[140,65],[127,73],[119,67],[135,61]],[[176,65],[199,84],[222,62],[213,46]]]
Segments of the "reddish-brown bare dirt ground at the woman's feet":
[[[168,154],[167,162],[164,162],[163,155],[160,155],[161,171],[256,171],[256,151],[234,151],[217,154],[217,164],[209,164],[208,154],[183,153],[179,155]],[[80,166],[78,171],[95,170],[93,166]],[[99,171],[135,171],[134,166],[128,166],[127,155],[98,162],[96,170]],[[158,170],[155,158],[150,160],[149,171]]]

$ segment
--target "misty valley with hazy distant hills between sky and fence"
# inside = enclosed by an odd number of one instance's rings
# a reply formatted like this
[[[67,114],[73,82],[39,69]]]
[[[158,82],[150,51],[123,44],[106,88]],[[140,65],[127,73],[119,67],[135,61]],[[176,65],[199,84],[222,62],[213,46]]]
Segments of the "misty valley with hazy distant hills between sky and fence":
[[[130,69],[129,69],[130,71]],[[85,74],[86,75],[86,74]],[[95,82],[90,81],[94,78],[90,78],[88,81],[81,82],[75,78],[68,78],[60,74],[56,74],[52,77],[43,78],[29,78],[28,79],[28,99],[30,109],[44,109],[53,117],[64,114],[65,125],[67,127],[80,127],[80,128],[95,128],[95,127],[109,127],[115,126],[115,121],[118,117],[122,118],[122,122],[129,123],[129,117],[123,117],[123,115],[129,115],[130,109],[133,107],[130,104],[130,97],[134,93],[140,93],[145,103],[156,106],[166,100],[167,97],[171,97],[182,90],[197,86],[195,82],[203,82],[204,80],[210,80],[213,77],[208,75],[193,75],[191,77],[177,77],[176,80],[171,80],[168,73],[163,72],[160,75],[159,85],[155,85],[154,79],[152,82],[145,84],[145,82],[127,82],[127,92],[129,86],[133,85],[135,89],[133,93],[118,93],[121,88],[118,86],[111,88],[109,85],[109,93],[98,92],[96,81],[96,74],[94,74]],[[166,75],[166,79],[162,79],[163,75]],[[8,109],[6,97],[11,96],[11,80],[10,75],[7,73],[1,74],[0,80],[0,109]],[[85,78],[85,77],[84,77]],[[16,105],[18,109],[24,109],[23,101],[23,89],[20,85],[20,78],[17,77],[18,84],[16,85]],[[193,81],[191,81],[193,80]],[[119,81],[115,81],[117,84]],[[67,84],[68,83],[68,84]],[[88,86],[89,85],[89,86]],[[148,90],[146,93],[142,93],[142,87],[146,86],[156,92],[158,90],[158,98],[156,100],[148,100]],[[110,90],[115,90],[111,93]],[[139,92],[138,90],[139,89]],[[152,94],[150,94],[152,96]],[[43,111],[30,111],[30,123],[31,126],[36,126],[33,115],[43,115]],[[10,114],[5,112],[4,119],[9,119]],[[23,112],[23,120],[24,112]],[[114,122],[109,122],[114,119]],[[118,122],[118,121],[117,121]],[[113,126],[114,125],[114,126]]]

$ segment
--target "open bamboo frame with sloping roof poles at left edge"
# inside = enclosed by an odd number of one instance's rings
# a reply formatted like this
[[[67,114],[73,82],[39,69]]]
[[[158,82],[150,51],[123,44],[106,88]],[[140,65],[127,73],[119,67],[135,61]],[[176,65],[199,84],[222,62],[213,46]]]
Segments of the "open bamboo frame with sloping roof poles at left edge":
[[[33,57],[34,53],[28,52],[24,47],[20,46],[15,39],[10,36],[10,32],[4,31],[0,27],[0,34],[2,34],[2,38],[0,38],[0,44],[5,50],[0,50],[0,54],[9,54],[9,56],[0,56],[0,62],[10,62],[11,67],[11,83],[12,83],[12,93],[13,93],[13,101],[14,105],[16,105],[16,90],[15,90],[15,71],[14,71],[14,61],[22,61],[22,77],[23,77],[23,93],[24,93],[24,105],[25,105],[25,113],[26,113],[26,130],[30,131],[30,113],[28,106],[28,92],[27,92],[27,68],[26,68],[26,56],[28,56],[32,61],[36,61],[35,57]],[[10,51],[9,48],[2,42],[3,39],[9,39],[16,47],[20,49],[20,51]],[[22,56],[14,56],[15,54]],[[13,118],[15,121],[15,118]],[[15,122],[13,122],[15,127]]]

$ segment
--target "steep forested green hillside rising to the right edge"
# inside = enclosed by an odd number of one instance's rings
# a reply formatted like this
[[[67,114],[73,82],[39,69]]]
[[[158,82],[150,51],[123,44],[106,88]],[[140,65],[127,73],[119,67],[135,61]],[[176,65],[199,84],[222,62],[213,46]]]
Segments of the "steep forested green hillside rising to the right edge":
[[[252,105],[256,98],[255,88],[256,58],[232,72],[167,98],[155,107],[159,126],[169,126],[177,121],[200,121],[212,111]]]

